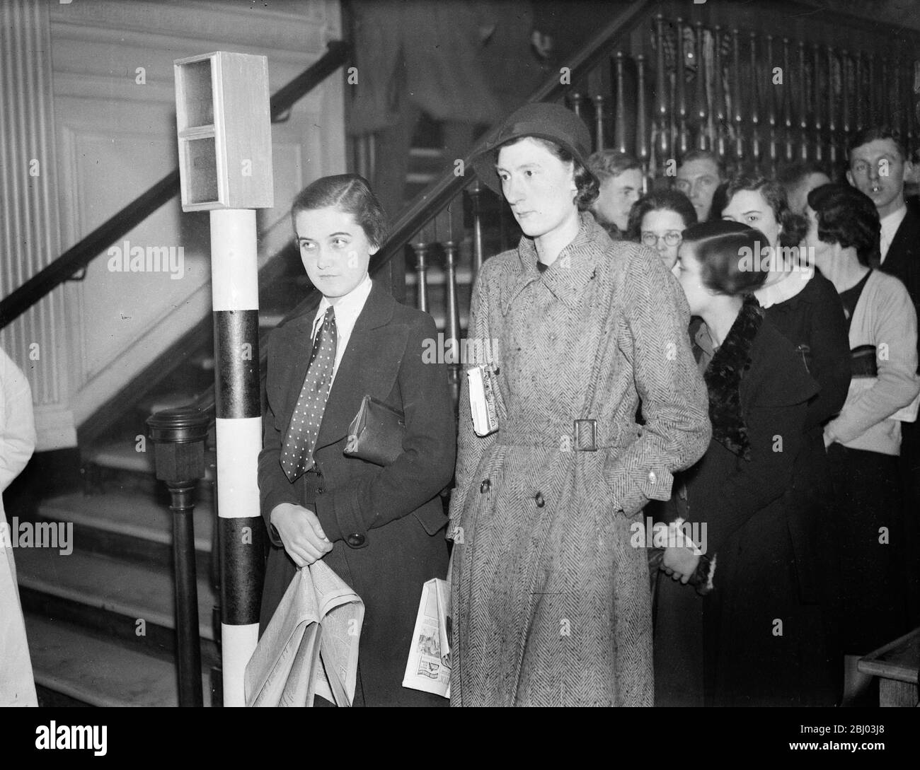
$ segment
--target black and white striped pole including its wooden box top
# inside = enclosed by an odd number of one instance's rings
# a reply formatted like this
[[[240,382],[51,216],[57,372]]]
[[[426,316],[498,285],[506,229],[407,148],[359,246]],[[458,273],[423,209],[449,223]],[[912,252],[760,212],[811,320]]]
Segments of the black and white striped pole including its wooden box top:
[[[259,638],[259,272],[255,209],[274,205],[268,61],[175,62],[182,209],[211,212],[224,706],[244,706]]]

